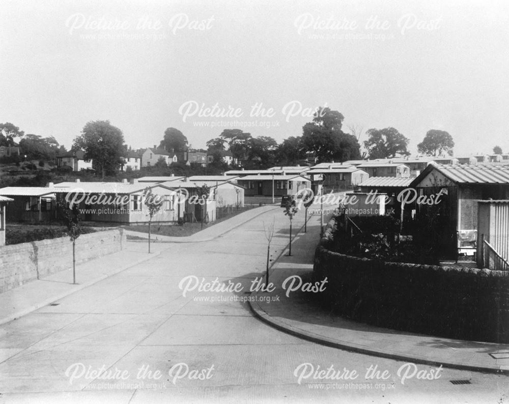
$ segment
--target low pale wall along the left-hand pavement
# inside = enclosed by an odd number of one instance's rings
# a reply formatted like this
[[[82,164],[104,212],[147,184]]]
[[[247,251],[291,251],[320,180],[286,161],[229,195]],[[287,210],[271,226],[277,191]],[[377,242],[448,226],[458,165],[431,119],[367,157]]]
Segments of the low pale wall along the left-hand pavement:
[[[76,240],[76,264],[121,251],[125,242],[124,229],[82,234]],[[69,237],[1,246],[0,293],[69,268]]]

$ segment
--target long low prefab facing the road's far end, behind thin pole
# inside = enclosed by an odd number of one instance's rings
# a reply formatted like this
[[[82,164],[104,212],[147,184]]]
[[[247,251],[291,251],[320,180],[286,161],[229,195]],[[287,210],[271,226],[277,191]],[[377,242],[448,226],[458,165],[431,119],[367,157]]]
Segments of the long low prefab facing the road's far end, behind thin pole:
[[[247,175],[237,178],[246,196],[295,195],[311,188],[311,180],[301,175]]]

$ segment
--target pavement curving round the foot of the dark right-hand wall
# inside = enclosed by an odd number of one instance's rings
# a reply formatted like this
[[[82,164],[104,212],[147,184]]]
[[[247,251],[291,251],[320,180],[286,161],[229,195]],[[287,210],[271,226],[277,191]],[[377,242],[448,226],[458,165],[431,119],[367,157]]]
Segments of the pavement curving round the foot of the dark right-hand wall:
[[[269,282],[282,285],[293,275],[299,275],[303,284],[312,282],[319,232],[317,225],[308,226],[307,233],[299,232],[292,256],[281,255],[277,259],[269,271]],[[250,301],[254,315],[281,331],[329,347],[415,363],[509,373],[509,344],[441,338],[362,324],[320,308],[312,292],[294,291],[288,296],[286,293],[283,289],[274,291],[272,294],[279,295],[277,302],[260,298]]]

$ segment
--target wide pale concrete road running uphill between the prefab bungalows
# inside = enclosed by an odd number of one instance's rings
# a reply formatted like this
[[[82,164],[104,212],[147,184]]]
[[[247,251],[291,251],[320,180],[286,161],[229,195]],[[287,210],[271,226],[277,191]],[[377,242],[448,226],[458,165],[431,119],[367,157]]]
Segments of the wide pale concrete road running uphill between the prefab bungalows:
[[[213,241],[168,244],[146,263],[5,324],[0,401],[509,400],[505,376],[413,368],[310,343],[253,318],[242,300],[265,271],[271,223],[275,259],[289,236],[282,209]],[[318,223],[313,216],[309,231],[318,233]],[[294,231],[302,225],[301,211]]]

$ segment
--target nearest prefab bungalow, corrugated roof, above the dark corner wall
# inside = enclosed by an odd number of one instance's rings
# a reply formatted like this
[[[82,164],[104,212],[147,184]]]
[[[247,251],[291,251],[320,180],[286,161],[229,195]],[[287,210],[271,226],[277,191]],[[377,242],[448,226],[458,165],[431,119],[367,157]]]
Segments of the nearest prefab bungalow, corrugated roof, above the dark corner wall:
[[[432,164],[410,187],[419,195],[442,193],[440,203],[417,205],[417,213],[435,218],[443,256],[456,259],[463,244],[475,250],[477,201],[509,199],[509,166]]]

